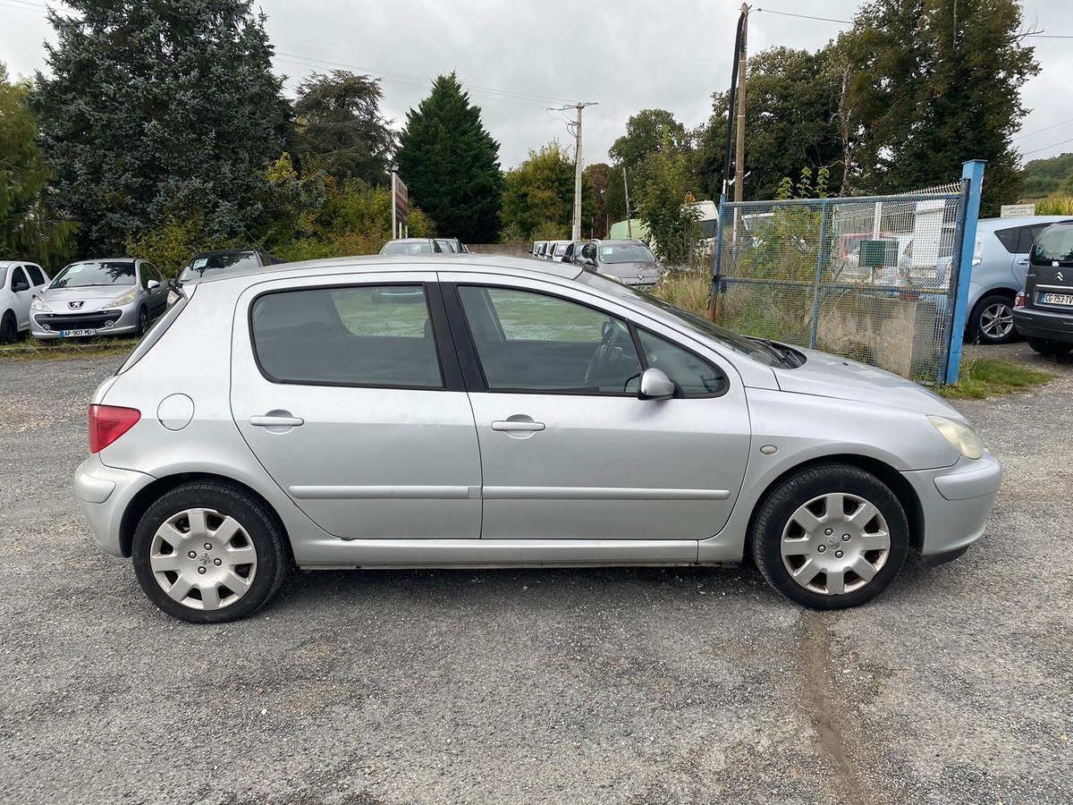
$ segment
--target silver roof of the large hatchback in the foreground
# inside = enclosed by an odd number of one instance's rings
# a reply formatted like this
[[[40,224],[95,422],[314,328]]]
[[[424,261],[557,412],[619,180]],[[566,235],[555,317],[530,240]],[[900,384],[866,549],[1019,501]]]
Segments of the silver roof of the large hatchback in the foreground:
[[[408,238],[424,240],[425,238]],[[541,262],[532,258],[511,258],[499,254],[367,254],[354,258],[329,258],[325,260],[306,260],[300,263],[281,263],[279,265],[258,268],[239,268],[233,272],[221,272],[217,276],[203,277],[197,284],[211,282],[234,282],[242,277],[264,279],[289,279],[291,277],[308,276],[311,270],[330,269],[340,274],[373,274],[376,272],[414,270],[456,270],[473,274],[547,274],[554,277],[573,279],[582,269],[572,263]]]

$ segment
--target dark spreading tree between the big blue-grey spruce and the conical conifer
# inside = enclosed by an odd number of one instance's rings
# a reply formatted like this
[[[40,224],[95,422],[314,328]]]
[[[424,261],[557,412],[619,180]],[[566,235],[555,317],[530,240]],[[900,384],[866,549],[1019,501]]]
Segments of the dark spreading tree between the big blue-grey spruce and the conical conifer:
[[[382,98],[378,78],[343,70],[303,82],[294,104],[303,173],[386,184],[395,134],[380,115]]]

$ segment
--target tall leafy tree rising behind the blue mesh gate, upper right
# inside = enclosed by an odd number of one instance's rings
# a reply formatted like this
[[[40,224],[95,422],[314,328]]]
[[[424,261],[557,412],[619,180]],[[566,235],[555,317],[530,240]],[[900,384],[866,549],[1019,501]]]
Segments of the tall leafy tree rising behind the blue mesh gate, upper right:
[[[1039,72],[1021,44],[1017,0],[872,0],[839,36],[849,130],[849,184],[898,192],[950,181],[987,160],[981,215],[1019,197],[1011,137],[1020,88]],[[843,187],[843,190],[847,188]]]

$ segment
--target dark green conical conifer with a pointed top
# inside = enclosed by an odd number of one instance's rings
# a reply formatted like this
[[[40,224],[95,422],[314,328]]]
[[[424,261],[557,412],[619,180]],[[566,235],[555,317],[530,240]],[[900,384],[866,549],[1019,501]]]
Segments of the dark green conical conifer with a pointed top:
[[[498,239],[504,187],[499,143],[454,73],[438,76],[428,98],[407,113],[396,162],[441,234],[465,243]]]

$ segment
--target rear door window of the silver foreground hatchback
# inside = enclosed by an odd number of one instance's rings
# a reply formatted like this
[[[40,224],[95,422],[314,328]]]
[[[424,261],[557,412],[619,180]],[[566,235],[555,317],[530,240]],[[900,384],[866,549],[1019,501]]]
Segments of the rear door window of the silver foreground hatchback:
[[[421,284],[266,293],[250,325],[258,363],[274,382],[443,387]]]

